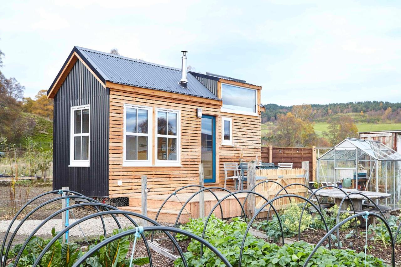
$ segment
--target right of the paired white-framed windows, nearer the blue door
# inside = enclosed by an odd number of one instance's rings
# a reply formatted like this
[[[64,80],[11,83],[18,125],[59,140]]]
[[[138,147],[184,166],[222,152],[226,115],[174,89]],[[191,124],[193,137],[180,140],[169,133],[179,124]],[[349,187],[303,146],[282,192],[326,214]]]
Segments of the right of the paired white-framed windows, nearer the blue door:
[[[156,109],[156,117],[156,166],[180,166],[181,113]]]

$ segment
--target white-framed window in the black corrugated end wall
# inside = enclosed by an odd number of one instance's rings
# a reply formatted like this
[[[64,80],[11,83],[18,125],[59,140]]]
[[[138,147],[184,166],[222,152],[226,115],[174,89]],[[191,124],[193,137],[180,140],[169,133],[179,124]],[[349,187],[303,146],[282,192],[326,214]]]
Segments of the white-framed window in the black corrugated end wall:
[[[71,107],[70,167],[89,167],[90,105]]]

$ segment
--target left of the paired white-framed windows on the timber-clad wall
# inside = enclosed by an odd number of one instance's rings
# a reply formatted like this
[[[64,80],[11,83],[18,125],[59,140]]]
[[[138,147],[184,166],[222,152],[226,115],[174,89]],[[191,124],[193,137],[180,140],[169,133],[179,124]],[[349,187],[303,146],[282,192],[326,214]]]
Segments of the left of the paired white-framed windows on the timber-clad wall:
[[[150,107],[124,104],[123,166],[151,166]]]

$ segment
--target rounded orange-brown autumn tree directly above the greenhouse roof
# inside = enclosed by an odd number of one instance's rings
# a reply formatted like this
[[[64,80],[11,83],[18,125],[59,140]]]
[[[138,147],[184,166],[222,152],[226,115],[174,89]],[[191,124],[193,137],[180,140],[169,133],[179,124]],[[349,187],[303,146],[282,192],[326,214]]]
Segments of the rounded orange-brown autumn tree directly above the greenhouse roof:
[[[328,132],[324,132],[330,144],[335,146],[347,137],[358,137],[358,128],[354,120],[346,115],[328,121]]]

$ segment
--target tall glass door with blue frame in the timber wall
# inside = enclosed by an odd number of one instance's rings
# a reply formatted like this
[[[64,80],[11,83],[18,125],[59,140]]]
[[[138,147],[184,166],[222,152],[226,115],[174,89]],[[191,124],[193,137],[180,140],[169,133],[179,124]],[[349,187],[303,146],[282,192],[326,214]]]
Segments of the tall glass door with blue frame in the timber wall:
[[[216,182],[216,118],[209,115],[202,116],[201,130],[201,162],[205,183]]]

